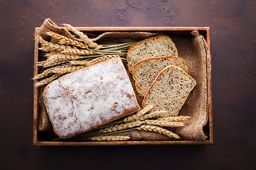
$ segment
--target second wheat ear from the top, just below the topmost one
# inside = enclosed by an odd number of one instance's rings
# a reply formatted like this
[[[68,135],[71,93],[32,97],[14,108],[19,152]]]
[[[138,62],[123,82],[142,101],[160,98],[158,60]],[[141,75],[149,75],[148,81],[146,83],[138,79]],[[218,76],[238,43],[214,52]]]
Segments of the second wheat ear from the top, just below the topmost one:
[[[63,35],[60,35],[58,33],[53,33],[53,32],[47,32],[47,35],[59,40],[58,42],[62,45],[73,45],[76,47],[81,47],[81,48],[88,48],[86,45],[84,45],[82,42],[78,42],[76,40],[72,40],[70,38],[67,38]]]

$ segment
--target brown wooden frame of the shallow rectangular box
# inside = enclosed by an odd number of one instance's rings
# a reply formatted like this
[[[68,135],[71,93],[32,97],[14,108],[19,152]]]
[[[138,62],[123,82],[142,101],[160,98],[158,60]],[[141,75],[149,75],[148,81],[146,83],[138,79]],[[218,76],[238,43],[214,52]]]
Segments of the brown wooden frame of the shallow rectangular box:
[[[171,33],[176,37],[191,37],[190,33],[193,30],[203,35],[206,39],[208,47],[210,47],[210,28],[209,27],[77,27],[78,30],[87,33],[104,33],[107,31],[148,31],[148,32],[163,32]],[[38,35],[39,28],[35,28],[35,35]],[[38,51],[38,42],[35,41],[34,52],[34,74],[38,74],[36,63],[40,57]],[[211,75],[208,71],[208,75]],[[38,130],[39,122],[39,103],[38,103],[38,88],[33,87],[33,145],[37,146],[89,146],[89,145],[210,145],[213,144],[213,108],[212,108],[212,87],[211,76],[207,77],[210,81],[210,95],[208,96],[208,123],[204,127],[208,138],[206,141],[181,140],[181,141],[121,141],[121,142],[57,142],[47,139],[47,134]]]

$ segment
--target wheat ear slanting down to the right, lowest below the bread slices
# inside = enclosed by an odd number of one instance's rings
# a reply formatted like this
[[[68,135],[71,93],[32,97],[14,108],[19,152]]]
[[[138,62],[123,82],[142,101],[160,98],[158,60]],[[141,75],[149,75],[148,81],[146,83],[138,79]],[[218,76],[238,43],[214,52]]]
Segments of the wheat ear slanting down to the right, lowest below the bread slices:
[[[158,132],[161,133],[163,135],[175,138],[175,139],[181,139],[181,137],[179,137],[176,133],[171,132],[170,130],[166,130],[164,128],[160,128],[158,126],[154,126],[154,125],[142,125],[139,128],[137,128],[137,130],[146,130],[146,131],[151,131],[151,132]]]

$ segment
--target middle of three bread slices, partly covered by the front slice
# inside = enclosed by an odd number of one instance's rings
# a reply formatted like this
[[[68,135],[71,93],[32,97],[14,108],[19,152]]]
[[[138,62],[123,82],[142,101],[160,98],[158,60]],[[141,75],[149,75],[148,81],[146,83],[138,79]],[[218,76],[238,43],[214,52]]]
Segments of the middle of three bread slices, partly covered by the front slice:
[[[181,67],[185,72],[188,72],[186,62],[180,57],[149,58],[134,65],[133,78],[139,96],[145,96],[159,72],[169,65]]]

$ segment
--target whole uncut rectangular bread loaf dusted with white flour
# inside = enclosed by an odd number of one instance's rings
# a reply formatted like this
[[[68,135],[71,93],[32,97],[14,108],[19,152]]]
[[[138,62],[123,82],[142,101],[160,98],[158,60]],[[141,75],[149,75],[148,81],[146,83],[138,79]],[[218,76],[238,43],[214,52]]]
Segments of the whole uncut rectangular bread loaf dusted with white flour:
[[[105,60],[52,81],[43,91],[55,134],[68,138],[138,111],[122,60]]]

